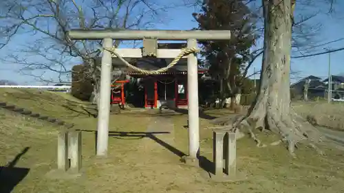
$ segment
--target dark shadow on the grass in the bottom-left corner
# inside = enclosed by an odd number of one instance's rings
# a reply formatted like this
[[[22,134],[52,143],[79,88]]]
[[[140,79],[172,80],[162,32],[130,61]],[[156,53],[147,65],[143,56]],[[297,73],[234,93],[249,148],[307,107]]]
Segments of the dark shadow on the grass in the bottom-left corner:
[[[0,166],[0,192],[10,193],[30,172],[29,168],[14,167],[19,159],[26,153],[30,147],[24,148],[12,161],[6,166]]]

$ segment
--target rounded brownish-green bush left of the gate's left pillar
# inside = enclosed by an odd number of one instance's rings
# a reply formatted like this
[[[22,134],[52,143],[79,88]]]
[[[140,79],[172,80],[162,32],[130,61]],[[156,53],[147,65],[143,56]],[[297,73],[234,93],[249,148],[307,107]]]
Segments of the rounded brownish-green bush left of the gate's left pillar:
[[[85,65],[75,65],[72,68],[72,95],[80,100],[89,100],[92,95],[92,78],[87,75]]]

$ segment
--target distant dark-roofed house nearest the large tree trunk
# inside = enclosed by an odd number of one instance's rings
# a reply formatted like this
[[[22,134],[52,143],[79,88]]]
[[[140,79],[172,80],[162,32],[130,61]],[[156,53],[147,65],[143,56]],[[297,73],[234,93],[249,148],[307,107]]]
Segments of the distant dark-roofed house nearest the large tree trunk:
[[[325,97],[327,86],[323,81],[321,81],[321,78],[316,76],[302,78],[298,82],[290,85],[290,89],[292,89],[294,95],[303,96],[303,87],[305,86],[306,80],[310,80],[308,87],[308,98]]]

